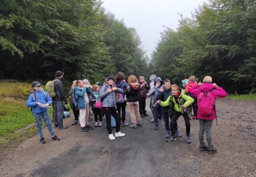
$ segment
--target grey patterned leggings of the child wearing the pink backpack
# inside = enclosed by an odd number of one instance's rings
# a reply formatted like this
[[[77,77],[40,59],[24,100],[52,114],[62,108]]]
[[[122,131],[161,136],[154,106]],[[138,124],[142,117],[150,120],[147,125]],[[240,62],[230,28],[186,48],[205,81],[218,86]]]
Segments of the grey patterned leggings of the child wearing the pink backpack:
[[[200,146],[204,146],[203,142],[203,133],[205,132],[206,134],[206,140],[208,147],[212,147],[213,145],[211,144],[211,127],[213,125],[213,121],[207,121],[203,119],[199,119],[199,142]]]

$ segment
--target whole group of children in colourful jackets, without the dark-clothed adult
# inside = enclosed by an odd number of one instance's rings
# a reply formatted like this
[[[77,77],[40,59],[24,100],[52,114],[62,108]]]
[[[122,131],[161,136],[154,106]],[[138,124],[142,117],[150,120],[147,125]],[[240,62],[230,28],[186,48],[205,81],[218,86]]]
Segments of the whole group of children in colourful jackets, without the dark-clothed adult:
[[[52,103],[47,92],[43,92],[41,84],[32,83],[33,93],[27,101],[27,106],[32,107],[33,115],[37,122],[37,130],[40,136],[40,142],[45,143],[41,130],[41,117],[49,128],[53,140],[60,140],[51,127],[51,121],[47,113],[47,107]],[[203,93],[203,94],[202,94]],[[35,96],[33,96],[35,95]],[[139,80],[135,75],[130,75],[125,81],[125,75],[122,72],[117,73],[116,77],[108,76],[104,85],[100,87],[100,83],[91,86],[87,79],[74,81],[69,92],[70,106],[74,112],[74,123],[72,125],[81,126],[81,131],[87,132],[93,130],[89,125],[90,106],[95,118],[95,127],[102,127],[102,117],[106,117],[106,128],[108,130],[108,138],[115,140],[117,137],[125,136],[120,131],[121,126],[129,125],[125,122],[125,109],[129,109],[131,115],[131,128],[142,126],[141,117],[148,116],[146,113],[146,96],[150,96],[150,109],[154,119],[155,130],[159,130],[159,119],[163,119],[165,125],[165,138],[167,142],[175,141],[181,137],[178,130],[177,119],[184,117],[186,127],[186,142],[190,144],[190,120],[199,119],[200,123],[200,151],[207,150],[209,154],[216,153],[217,150],[211,143],[211,125],[216,119],[215,103],[212,108],[204,106],[202,103],[198,107],[198,98],[202,102],[204,97],[223,98],[226,92],[223,88],[212,83],[209,76],[203,78],[203,83],[198,83],[196,77],[188,78],[188,84],[185,89],[181,89],[178,85],[171,85],[169,79],[161,80],[156,75],[150,76],[150,85],[144,81],[144,77],[140,76]],[[117,97],[121,99],[117,102]],[[207,97],[207,98],[208,98]],[[122,101],[123,99],[123,101]],[[121,101],[120,101],[121,100]],[[206,104],[205,104],[206,105]],[[205,110],[210,113],[205,113]],[[203,110],[203,111],[202,111]],[[111,118],[116,121],[116,133],[112,133]],[[207,145],[203,142],[203,134],[206,134]]]

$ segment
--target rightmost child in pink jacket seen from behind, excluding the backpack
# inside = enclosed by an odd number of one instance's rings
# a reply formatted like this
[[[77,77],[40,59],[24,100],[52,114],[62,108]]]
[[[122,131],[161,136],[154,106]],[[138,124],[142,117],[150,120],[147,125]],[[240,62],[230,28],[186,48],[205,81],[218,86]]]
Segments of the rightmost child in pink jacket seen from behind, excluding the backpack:
[[[200,92],[203,92],[203,94],[211,92],[212,96],[214,97],[214,101],[216,98],[224,98],[227,94],[223,90],[223,88],[217,86],[216,83],[213,83],[213,79],[210,76],[205,76],[203,78],[203,84],[198,83],[198,85],[194,85],[194,87],[190,88],[190,93],[193,96],[198,97]],[[198,100],[199,101],[199,100]],[[199,106],[199,103],[198,103]],[[203,115],[201,113],[200,108],[198,108],[198,119],[199,119],[199,142],[200,151],[208,151],[209,154],[217,153],[217,149],[213,147],[211,144],[211,127],[213,125],[213,120],[216,119],[216,109],[215,105],[213,106],[212,115]],[[205,143],[203,142],[203,134],[206,134],[207,138],[207,144],[208,146],[205,146]]]

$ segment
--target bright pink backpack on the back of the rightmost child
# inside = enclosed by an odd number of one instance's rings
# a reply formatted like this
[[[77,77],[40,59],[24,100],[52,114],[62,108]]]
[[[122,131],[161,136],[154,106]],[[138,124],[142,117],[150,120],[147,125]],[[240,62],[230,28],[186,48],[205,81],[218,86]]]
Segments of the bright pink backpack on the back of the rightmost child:
[[[213,89],[209,90],[208,92],[203,92],[201,88],[199,88],[199,90],[200,94],[198,94],[198,114],[209,117],[215,112],[215,98],[213,94],[211,94]]]

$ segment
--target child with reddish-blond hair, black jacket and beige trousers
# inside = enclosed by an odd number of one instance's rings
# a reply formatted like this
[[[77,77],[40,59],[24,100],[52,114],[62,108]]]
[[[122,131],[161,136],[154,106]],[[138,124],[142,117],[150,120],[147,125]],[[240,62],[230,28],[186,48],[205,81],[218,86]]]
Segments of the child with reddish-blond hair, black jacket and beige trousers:
[[[125,89],[125,94],[127,96],[127,105],[131,115],[131,128],[137,128],[142,126],[141,117],[139,112],[139,83],[135,75],[130,75],[128,77],[128,87]]]

